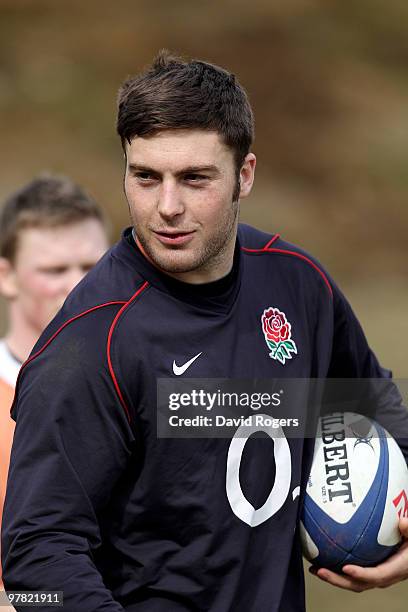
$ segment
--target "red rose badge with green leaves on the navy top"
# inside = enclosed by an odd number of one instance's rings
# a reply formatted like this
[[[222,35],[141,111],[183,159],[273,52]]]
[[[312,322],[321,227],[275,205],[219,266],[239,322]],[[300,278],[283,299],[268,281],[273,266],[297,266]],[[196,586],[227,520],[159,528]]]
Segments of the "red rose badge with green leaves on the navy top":
[[[292,340],[291,325],[285,313],[270,306],[263,311],[261,321],[265,342],[271,351],[269,357],[284,365],[287,359],[297,355],[297,346]]]

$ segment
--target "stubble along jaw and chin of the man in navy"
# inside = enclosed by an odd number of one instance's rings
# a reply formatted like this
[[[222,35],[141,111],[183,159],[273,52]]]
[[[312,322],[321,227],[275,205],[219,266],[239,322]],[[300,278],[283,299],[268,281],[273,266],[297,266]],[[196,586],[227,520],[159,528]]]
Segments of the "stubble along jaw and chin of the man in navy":
[[[218,231],[211,236],[206,244],[201,245],[201,248],[198,247],[191,253],[188,253],[188,257],[187,252],[183,248],[177,247],[167,249],[166,252],[161,253],[160,247],[154,248],[152,241],[140,231],[140,228],[138,230],[135,223],[133,223],[133,226],[146,255],[163,272],[181,274],[183,272],[202,270],[208,273],[225,261],[225,257],[228,256],[228,250],[231,248],[231,241],[235,245],[238,214],[239,200],[232,201],[228,215],[223,223],[220,224]]]

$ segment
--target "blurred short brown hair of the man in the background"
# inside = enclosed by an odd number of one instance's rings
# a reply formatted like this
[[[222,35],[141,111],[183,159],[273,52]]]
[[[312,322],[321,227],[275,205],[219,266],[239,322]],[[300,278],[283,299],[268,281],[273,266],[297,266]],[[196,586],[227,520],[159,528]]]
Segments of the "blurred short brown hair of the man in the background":
[[[9,196],[0,210],[0,256],[14,260],[22,229],[90,218],[106,227],[101,209],[78,185],[64,176],[41,175]]]

